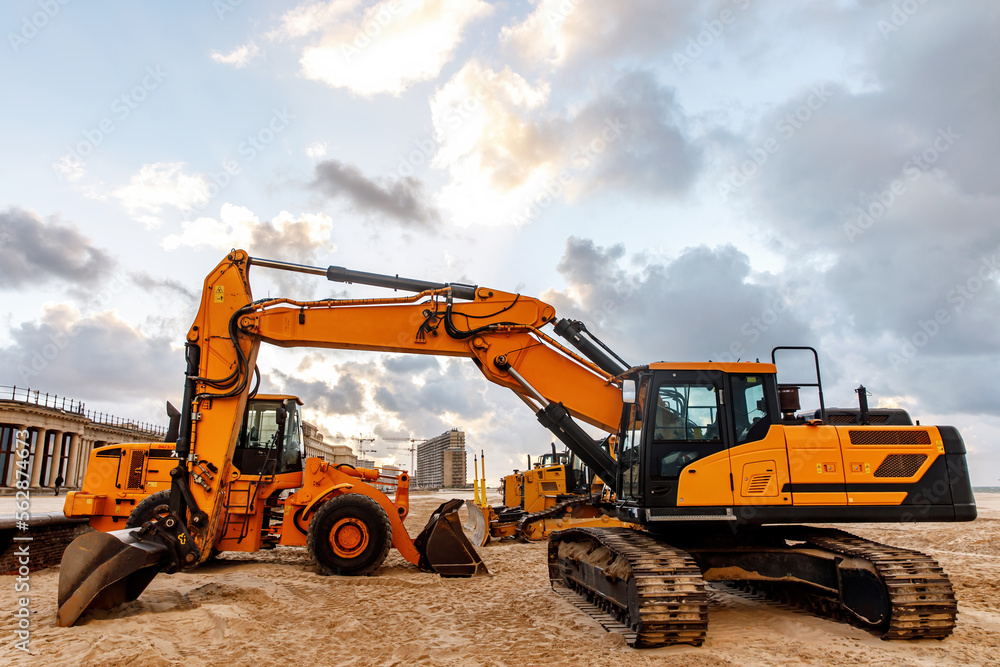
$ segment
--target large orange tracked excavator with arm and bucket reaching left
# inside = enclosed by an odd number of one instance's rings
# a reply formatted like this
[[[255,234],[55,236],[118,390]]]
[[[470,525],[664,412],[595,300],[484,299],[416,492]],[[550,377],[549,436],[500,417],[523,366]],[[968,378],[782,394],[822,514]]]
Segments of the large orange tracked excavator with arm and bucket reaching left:
[[[251,267],[415,294],[254,301]],[[929,556],[801,524],[973,520],[961,435],[914,425],[902,410],[870,410],[864,391],[858,408],[828,410],[812,348],[775,348],[771,363],[630,366],[538,299],[243,251],[208,276],[188,333],[168,512],[140,530],[102,533],[110,537],[96,547],[83,536],[67,548],[61,624],[106,598],[134,599],[157,572],[209,557],[239,476],[233,424],[262,342],[465,357],[512,390],[612,488],[618,519],[631,524],[557,531],[548,549],[553,587],[617,617],[630,645],[701,644],[709,581],[794,601],[886,639],[943,638],[954,628],[954,591]],[[780,384],[776,355],[809,351],[816,382]],[[816,414],[797,413],[801,387],[816,389]],[[595,439],[577,420],[607,435]],[[219,470],[208,489],[192,481],[201,461]],[[324,524],[315,539],[328,543],[336,525]]]

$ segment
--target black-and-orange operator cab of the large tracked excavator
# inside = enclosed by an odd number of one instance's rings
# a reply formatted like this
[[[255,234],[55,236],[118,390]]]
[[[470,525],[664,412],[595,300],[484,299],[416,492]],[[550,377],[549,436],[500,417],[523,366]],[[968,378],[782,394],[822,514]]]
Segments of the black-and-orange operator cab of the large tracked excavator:
[[[620,499],[642,508],[688,504],[678,487],[691,476],[698,504],[732,505],[729,450],[778,423],[773,366],[651,364],[631,379],[635,399],[625,405],[616,452]]]

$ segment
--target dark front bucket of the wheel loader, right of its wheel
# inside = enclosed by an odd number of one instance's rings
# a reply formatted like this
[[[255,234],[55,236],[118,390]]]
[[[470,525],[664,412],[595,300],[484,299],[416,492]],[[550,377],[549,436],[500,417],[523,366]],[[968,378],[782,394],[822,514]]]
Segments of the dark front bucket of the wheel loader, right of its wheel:
[[[453,499],[443,503],[413,541],[420,553],[420,569],[437,572],[442,577],[489,574],[483,559],[462,531],[458,508],[463,502]]]

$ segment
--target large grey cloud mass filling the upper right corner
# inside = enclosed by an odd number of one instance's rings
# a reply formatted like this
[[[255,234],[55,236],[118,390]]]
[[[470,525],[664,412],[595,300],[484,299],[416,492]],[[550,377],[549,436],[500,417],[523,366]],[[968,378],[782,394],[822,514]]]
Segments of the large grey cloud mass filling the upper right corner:
[[[729,194],[745,197],[788,271],[817,290],[823,308],[810,315],[844,340],[864,337],[861,354],[881,363],[883,348],[901,347],[936,315],[947,321],[925,357],[995,353],[1000,80],[981,63],[1000,60],[1000,13],[982,2],[928,4],[893,26],[892,11],[855,7],[831,23],[844,38],[871,37],[862,51],[870,85],[818,81],[765,114],[734,165],[763,155],[768,140],[776,148]]]

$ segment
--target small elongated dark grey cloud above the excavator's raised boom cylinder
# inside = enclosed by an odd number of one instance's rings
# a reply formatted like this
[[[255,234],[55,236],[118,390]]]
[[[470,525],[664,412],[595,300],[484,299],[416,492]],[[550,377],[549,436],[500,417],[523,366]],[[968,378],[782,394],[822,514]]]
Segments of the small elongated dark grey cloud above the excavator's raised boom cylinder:
[[[328,197],[342,196],[360,211],[381,213],[402,223],[429,226],[438,220],[437,211],[426,201],[423,183],[413,177],[378,182],[352,164],[326,160],[316,165],[312,187]]]

